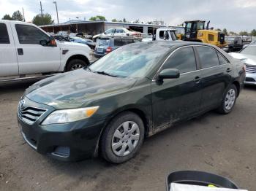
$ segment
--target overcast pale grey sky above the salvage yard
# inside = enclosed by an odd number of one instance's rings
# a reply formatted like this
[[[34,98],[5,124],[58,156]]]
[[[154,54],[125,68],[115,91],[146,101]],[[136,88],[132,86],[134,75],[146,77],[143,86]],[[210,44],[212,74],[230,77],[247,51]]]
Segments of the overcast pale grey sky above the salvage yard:
[[[256,28],[256,0],[57,0],[60,23],[79,17],[104,15],[107,20],[164,20],[176,26],[184,20],[211,20],[214,28],[227,31],[252,31]],[[26,21],[39,13],[39,0],[0,0],[0,18],[15,10],[25,12]],[[53,1],[42,0],[43,12],[57,23]]]

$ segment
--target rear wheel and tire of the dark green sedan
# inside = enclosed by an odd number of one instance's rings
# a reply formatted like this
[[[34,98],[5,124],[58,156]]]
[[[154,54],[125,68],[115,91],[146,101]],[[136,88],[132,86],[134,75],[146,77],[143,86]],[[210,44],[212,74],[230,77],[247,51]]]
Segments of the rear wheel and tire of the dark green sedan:
[[[225,91],[222,99],[222,105],[219,106],[217,111],[221,114],[229,114],[236,104],[237,95],[236,85],[230,85],[230,87]]]

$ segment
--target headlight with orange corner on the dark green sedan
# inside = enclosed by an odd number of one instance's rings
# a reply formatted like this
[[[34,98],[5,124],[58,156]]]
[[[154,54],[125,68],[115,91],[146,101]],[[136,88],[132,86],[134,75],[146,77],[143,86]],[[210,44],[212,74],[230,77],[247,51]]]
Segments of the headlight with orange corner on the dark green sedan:
[[[59,124],[83,120],[91,117],[91,115],[97,112],[97,109],[99,109],[99,106],[56,110],[55,112],[49,114],[48,117],[46,117],[46,119],[42,122],[42,125]]]

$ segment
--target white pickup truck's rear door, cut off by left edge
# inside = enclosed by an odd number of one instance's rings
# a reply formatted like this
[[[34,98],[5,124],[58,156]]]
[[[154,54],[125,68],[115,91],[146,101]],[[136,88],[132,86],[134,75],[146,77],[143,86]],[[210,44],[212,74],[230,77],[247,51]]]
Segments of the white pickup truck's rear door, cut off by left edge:
[[[10,23],[0,23],[0,77],[18,75],[18,61]]]

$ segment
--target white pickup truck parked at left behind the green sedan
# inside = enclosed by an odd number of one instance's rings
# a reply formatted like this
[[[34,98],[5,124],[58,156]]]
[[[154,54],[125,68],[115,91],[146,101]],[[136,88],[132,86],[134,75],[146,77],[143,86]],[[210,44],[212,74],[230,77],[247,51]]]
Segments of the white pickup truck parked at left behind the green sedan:
[[[90,61],[86,44],[58,42],[34,24],[0,20],[0,82],[71,71]]]

